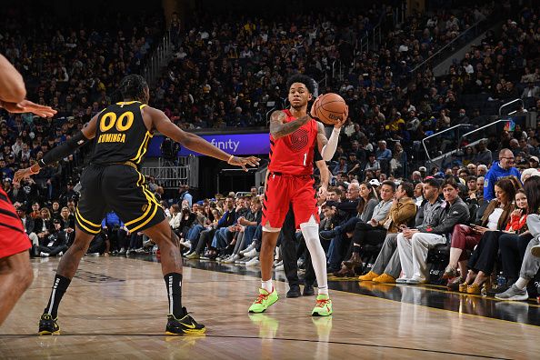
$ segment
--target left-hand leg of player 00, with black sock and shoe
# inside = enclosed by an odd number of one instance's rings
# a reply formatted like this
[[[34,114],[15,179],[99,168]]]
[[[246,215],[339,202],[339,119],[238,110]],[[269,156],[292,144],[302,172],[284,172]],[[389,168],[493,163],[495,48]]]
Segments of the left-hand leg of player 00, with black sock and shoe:
[[[45,306],[43,315],[41,315],[39,321],[40,335],[51,335],[60,331],[60,327],[56,323],[58,319],[58,306],[62,301],[67,287],[71,284],[81,258],[86,254],[86,250],[88,250],[88,246],[94,236],[94,234],[83,232],[78,224],[75,225],[75,241],[60,259],[60,263],[56,269],[51,295],[49,295],[49,302]]]

